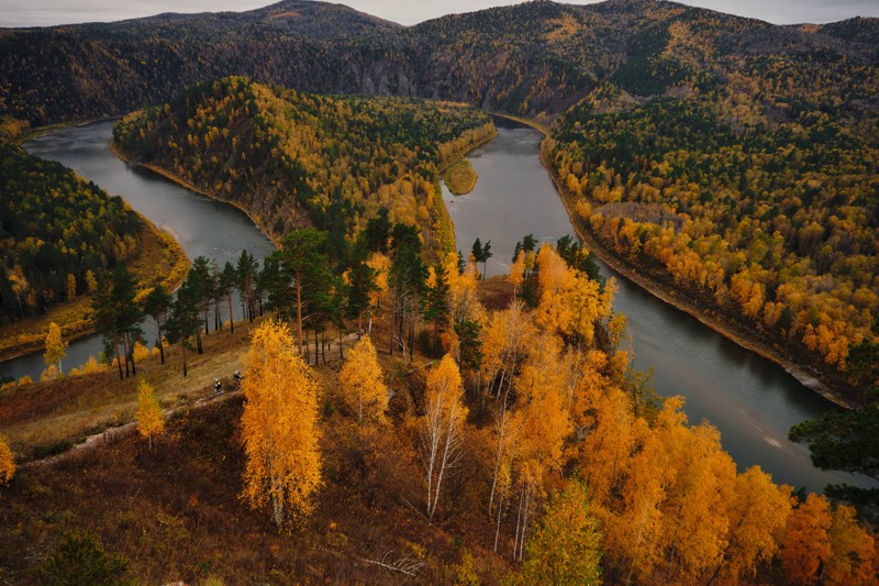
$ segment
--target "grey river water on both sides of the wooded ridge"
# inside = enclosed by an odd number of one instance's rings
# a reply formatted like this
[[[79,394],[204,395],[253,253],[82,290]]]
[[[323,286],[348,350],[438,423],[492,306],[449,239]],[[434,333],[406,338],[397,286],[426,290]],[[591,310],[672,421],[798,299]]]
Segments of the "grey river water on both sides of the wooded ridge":
[[[488,274],[505,274],[515,243],[527,233],[553,241],[572,234],[555,186],[539,161],[542,135],[498,121],[499,136],[474,151],[469,161],[479,174],[474,191],[444,199],[455,223],[459,250],[468,252],[478,236],[491,241]],[[173,232],[187,255],[233,264],[247,250],[257,258],[271,252],[270,242],[246,214],[168,181],[149,170],[125,164],[108,147],[112,122],[65,129],[25,143],[29,152],[71,167],[160,228]],[[820,491],[826,484],[848,482],[872,486],[869,479],[814,468],[806,450],[787,440],[788,429],[834,406],[803,387],[782,368],[760,358],[671,308],[602,265],[615,277],[614,309],[628,318],[634,366],[653,371],[663,396],[686,397],[691,422],[708,420],[722,434],[724,447],[739,469],[758,464],[777,483]],[[236,309],[240,311],[240,309]],[[237,316],[238,319],[241,316]],[[147,338],[155,336],[146,328]],[[100,351],[98,336],[73,342],[65,364],[84,363]],[[38,375],[41,353],[2,364],[16,378]]]

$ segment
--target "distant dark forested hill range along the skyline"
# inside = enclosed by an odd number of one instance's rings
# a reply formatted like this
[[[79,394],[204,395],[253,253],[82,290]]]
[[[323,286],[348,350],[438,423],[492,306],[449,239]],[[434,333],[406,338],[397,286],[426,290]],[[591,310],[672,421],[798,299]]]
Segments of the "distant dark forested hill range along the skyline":
[[[403,27],[340,4],[289,0],[241,13],[3,30],[0,119],[123,114],[227,75],[553,115],[603,84],[639,100],[688,79],[724,85],[741,58],[759,55],[872,64],[876,22],[775,26],[674,2],[611,0],[527,2]]]

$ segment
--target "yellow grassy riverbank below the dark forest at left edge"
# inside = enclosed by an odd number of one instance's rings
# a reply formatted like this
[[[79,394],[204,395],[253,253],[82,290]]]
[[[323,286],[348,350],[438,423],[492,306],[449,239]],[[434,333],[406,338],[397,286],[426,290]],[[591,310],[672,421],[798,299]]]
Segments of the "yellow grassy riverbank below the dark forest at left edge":
[[[180,243],[159,230],[140,212],[144,224],[136,258],[126,266],[140,284],[152,287],[162,284],[168,290],[176,289],[186,278],[190,262]],[[78,340],[94,333],[91,322],[91,295],[80,295],[75,301],[53,306],[43,316],[16,321],[0,333],[0,363],[43,350],[49,323],[62,329],[62,338]]]

